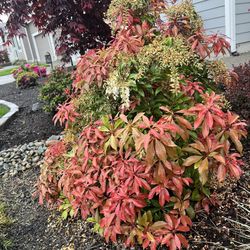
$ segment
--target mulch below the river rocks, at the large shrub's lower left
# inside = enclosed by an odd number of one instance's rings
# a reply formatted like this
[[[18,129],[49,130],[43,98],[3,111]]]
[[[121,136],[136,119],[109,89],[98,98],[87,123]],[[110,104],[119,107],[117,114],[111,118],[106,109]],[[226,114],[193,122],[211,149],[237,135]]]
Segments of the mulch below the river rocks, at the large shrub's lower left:
[[[0,178],[0,200],[6,204],[6,212],[13,220],[5,230],[13,244],[11,249],[59,250],[72,244],[75,248],[71,249],[106,249],[106,244],[90,230],[89,224],[80,220],[63,221],[58,214],[38,205],[32,197],[38,174],[36,167],[3,182]]]

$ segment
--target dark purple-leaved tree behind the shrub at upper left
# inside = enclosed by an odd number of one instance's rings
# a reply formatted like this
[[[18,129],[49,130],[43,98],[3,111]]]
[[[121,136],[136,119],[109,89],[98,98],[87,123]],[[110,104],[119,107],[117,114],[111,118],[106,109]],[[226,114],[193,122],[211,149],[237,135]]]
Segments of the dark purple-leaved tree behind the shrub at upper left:
[[[0,15],[9,15],[8,39],[24,36],[22,27],[32,21],[43,34],[59,33],[57,52],[64,61],[70,55],[84,54],[111,39],[104,16],[110,0],[2,0]]]

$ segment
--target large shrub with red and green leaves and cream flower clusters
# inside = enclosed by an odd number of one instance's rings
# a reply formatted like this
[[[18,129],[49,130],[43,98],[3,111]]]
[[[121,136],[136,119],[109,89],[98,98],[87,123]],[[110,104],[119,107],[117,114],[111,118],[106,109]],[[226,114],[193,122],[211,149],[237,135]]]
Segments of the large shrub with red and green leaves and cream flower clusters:
[[[216,93],[232,75],[206,60],[229,44],[205,35],[190,1],[113,0],[108,17],[114,40],[82,57],[55,116],[65,137],[46,152],[40,203],[91,217],[107,241],[186,248],[195,212],[217,203],[212,184],[242,174],[246,124]],[[88,116],[76,104],[96,90],[110,108]]]

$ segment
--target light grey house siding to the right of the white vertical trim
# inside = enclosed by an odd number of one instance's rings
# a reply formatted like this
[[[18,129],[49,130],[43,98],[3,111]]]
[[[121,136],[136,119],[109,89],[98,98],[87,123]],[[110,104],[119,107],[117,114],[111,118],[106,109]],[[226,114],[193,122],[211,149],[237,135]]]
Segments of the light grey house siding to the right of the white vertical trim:
[[[236,41],[238,50],[250,50],[250,0],[236,0]]]

